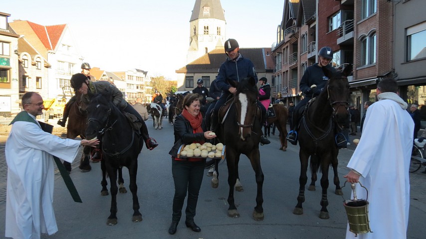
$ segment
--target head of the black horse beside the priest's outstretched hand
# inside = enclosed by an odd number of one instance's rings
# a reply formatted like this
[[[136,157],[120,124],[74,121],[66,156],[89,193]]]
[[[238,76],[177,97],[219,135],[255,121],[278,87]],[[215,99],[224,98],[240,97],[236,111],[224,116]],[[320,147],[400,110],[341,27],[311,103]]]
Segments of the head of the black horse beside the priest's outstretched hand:
[[[109,124],[112,111],[111,94],[96,94],[90,96],[90,103],[87,105],[87,138],[94,138]]]

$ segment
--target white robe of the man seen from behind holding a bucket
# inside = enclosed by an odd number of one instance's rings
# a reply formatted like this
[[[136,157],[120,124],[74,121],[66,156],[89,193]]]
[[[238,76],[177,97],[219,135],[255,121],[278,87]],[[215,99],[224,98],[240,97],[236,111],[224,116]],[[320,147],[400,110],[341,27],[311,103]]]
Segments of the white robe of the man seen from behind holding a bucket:
[[[373,233],[359,234],[356,239],[407,238],[413,131],[413,119],[402,99],[399,103],[379,100],[368,108],[363,135],[348,168],[361,173],[359,181],[368,189]],[[357,198],[366,199],[365,189],[356,185]],[[349,225],[346,239],[355,239]]]

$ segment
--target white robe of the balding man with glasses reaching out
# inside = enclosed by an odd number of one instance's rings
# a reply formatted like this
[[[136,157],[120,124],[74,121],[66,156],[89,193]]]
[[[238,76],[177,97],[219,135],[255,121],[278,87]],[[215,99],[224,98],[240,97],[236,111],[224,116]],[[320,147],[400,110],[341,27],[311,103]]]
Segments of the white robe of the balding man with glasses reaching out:
[[[52,155],[72,162],[79,146],[79,140],[61,139],[44,132],[38,124],[13,123],[5,147],[5,237],[39,239],[40,233],[51,235],[58,231],[52,205]]]

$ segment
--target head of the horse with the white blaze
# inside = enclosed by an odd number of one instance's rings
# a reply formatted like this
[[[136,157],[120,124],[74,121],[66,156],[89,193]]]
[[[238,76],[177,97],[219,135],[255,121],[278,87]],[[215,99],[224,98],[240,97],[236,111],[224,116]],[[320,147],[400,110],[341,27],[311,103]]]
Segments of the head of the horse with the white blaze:
[[[236,88],[234,95],[236,121],[239,126],[238,135],[242,140],[245,140],[251,135],[251,130],[254,126],[256,116],[260,116],[257,110],[257,96],[259,94],[256,86],[256,81],[253,77],[244,78],[240,82],[228,81],[229,84]]]

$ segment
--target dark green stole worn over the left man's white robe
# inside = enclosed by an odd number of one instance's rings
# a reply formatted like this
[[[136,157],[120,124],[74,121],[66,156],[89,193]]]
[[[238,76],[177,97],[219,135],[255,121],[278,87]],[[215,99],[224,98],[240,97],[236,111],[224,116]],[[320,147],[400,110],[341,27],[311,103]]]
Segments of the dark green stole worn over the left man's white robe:
[[[13,119],[10,122],[10,124],[13,124],[16,121],[25,121],[25,122],[31,122],[31,123],[37,124],[36,120],[30,117],[26,111],[22,111],[19,114],[17,114],[15,119]],[[40,122],[40,121],[38,121],[38,123],[40,124],[41,129],[43,131],[52,133],[53,125]],[[71,194],[72,199],[74,200],[74,202],[82,203],[80,195],[78,194],[77,189],[75,188],[74,183],[72,182],[71,177],[69,176],[69,172],[66,171],[65,166],[62,164],[61,160],[58,157],[54,155],[52,156],[53,156],[53,159],[55,160],[56,166],[59,169],[59,172],[61,173],[62,179],[64,180],[65,185],[68,188],[69,193]]]

